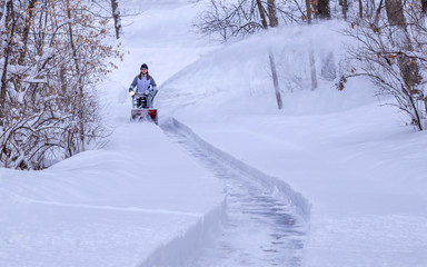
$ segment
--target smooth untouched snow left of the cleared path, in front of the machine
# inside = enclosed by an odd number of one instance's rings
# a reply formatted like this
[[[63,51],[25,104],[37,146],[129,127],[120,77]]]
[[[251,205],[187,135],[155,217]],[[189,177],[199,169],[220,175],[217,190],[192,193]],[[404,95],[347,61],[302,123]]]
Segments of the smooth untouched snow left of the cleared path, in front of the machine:
[[[0,185],[1,266],[138,266],[222,205],[212,176],[151,125],[44,171],[1,170]]]

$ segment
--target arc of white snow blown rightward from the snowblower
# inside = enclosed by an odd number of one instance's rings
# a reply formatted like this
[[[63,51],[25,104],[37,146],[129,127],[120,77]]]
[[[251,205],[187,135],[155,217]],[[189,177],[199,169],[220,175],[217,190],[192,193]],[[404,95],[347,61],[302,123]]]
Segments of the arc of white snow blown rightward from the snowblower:
[[[336,21],[312,27],[284,27],[225,44],[165,81],[163,92],[159,96],[160,107],[173,112],[180,106],[205,101],[209,107],[220,109],[221,115],[227,110],[232,113],[240,107],[246,107],[245,112],[249,113],[275,112],[277,103],[270,78],[269,49],[277,61],[282,113],[336,112],[376,101],[374,89],[365,79],[349,80],[341,92],[334,86],[329,72],[339,77],[340,71],[348,68],[346,61],[340,60],[351,40],[339,33],[342,27]],[[315,52],[318,73],[316,91],[309,90],[310,49]],[[210,109],[200,109],[197,113],[199,118],[212,115]]]

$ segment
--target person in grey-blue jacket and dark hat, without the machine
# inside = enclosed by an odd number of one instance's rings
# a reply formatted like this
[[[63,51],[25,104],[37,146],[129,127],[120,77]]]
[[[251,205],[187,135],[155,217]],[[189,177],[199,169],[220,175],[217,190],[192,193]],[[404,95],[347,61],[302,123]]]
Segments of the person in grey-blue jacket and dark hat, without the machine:
[[[138,98],[137,106],[141,106],[141,97],[147,99],[147,107],[152,108],[152,100],[157,93],[157,85],[155,79],[148,73],[148,66],[143,63],[141,66],[141,72],[135,77],[132,83],[129,87],[129,95]],[[136,89],[136,90],[135,90]]]

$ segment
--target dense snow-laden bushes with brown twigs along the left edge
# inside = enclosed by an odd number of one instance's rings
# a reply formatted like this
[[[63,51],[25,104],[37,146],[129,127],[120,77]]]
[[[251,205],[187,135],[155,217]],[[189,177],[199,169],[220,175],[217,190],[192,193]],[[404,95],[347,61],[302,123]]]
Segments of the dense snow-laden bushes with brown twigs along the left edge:
[[[121,57],[92,1],[7,1],[0,19],[0,167],[40,169],[102,142],[93,85]]]

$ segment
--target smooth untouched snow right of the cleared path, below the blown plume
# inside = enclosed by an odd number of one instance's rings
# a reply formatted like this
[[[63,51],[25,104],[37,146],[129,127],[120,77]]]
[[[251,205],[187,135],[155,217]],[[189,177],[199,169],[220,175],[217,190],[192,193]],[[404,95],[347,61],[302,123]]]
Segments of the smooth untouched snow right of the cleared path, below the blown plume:
[[[399,127],[390,113],[369,105],[324,116],[187,121],[308,199],[304,266],[426,266],[426,135]]]

